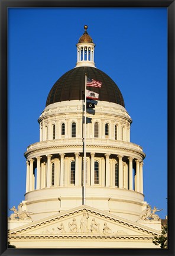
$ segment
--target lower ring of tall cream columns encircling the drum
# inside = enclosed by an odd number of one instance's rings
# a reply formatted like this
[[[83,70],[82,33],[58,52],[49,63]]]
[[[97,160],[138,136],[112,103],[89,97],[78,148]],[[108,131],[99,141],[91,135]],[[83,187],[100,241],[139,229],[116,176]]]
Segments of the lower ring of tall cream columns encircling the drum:
[[[111,156],[111,158],[110,158]],[[70,184],[70,162],[75,161],[74,169],[74,184],[75,186],[82,185],[82,153],[76,152],[73,156],[66,153],[59,155],[37,156],[28,159],[27,163],[27,178],[26,178],[26,193],[35,189],[50,187],[66,187]],[[103,159],[103,161],[99,161]],[[86,158],[89,161],[87,168],[88,181],[87,186],[98,185],[99,187],[115,187],[115,165],[117,166],[118,188],[135,190],[143,193],[143,162],[133,157],[123,155],[111,155],[105,153],[99,157],[95,153],[89,153]],[[99,184],[95,184],[95,162],[99,162]],[[54,164],[54,168],[52,165]],[[35,171],[36,169],[36,171]],[[52,172],[53,181],[52,181]],[[53,182],[53,184],[52,184]]]

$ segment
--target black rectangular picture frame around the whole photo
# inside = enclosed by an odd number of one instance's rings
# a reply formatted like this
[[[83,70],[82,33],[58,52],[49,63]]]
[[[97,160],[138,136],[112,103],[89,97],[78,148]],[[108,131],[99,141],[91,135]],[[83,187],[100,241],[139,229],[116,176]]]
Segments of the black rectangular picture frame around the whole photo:
[[[7,10],[19,7],[166,7],[168,11],[168,249],[12,249],[7,248],[8,209],[8,81],[7,81]],[[1,87],[0,87],[0,252],[1,255],[174,255],[174,0],[48,1],[0,0]]]

